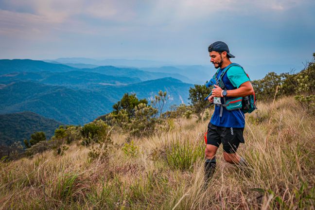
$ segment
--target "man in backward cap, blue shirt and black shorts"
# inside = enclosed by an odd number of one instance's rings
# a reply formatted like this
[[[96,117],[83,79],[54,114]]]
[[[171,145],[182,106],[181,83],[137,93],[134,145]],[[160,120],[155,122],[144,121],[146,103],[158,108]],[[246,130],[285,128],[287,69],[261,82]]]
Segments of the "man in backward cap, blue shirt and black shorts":
[[[215,69],[219,69],[216,75],[216,81],[219,80],[221,72],[232,62],[230,58],[235,56],[229,53],[227,44],[217,41],[208,48],[211,63]],[[205,150],[205,180],[209,183],[212,177],[216,160],[215,154],[220,144],[223,144],[224,159],[231,164],[241,167],[246,165],[243,157],[240,157],[236,151],[240,143],[244,143],[243,131],[245,126],[245,116],[240,109],[228,111],[226,107],[220,105],[228,99],[235,97],[244,97],[254,94],[254,89],[244,70],[239,66],[228,67],[223,74],[222,82],[226,90],[217,85],[212,89],[212,95],[208,98],[210,103],[215,104],[214,113],[208,125],[207,146]]]

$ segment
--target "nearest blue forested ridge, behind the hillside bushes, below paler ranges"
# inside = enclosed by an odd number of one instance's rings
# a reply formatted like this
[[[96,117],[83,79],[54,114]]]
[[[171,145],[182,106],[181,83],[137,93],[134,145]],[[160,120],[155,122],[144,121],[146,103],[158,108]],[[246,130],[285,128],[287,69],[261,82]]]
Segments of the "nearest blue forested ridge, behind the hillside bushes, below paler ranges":
[[[159,90],[171,96],[168,105],[188,103],[191,84],[162,78],[126,86],[96,86],[93,90],[17,82],[0,89],[0,114],[32,111],[67,124],[88,123],[112,111],[124,93],[136,93],[149,101]]]

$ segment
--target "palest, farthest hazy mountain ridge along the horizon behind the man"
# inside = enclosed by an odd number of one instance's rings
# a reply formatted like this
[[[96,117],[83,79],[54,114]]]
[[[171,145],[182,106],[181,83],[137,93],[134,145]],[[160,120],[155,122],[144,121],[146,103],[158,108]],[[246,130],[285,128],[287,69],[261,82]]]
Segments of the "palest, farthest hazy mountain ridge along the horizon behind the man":
[[[116,66],[116,67],[136,67],[139,70],[164,72],[164,73],[178,73],[189,78],[193,84],[205,84],[213,74],[216,72],[213,65],[177,65],[172,62],[157,62],[148,60],[128,60],[128,59],[90,59],[90,58],[58,58],[55,60],[47,60],[48,62],[55,62],[59,64],[69,65],[75,68],[95,68],[99,66]],[[238,60],[233,59],[232,62],[238,63]],[[290,72],[295,70],[298,72],[304,68],[304,65],[293,64],[247,64],[239,61],[240,65],[244,67],[249,77],[254,79],[261,79],[268,72],[274,71],[276,73]],[[179,79],[179,78],[177,78]],[[184,80],[182,80],[184,81]]]

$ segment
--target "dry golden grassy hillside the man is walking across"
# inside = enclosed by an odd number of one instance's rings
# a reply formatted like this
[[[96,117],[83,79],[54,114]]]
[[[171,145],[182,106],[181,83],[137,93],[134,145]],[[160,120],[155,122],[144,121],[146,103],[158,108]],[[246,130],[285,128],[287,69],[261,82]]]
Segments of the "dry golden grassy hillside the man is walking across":
[[[124,144],[126,136],[112,130],[115,144],[106,158],[88,161],[92,147],[77,140],[63,156],[46,151],[1,162],[0,208],[314,209],[314,116],[292,97],[258,107],[246,115],[245,144],[238,150],[251,176],[227,164],[221,147],[214,177],[203,188],[208,120],[182,119],[134,144]]]

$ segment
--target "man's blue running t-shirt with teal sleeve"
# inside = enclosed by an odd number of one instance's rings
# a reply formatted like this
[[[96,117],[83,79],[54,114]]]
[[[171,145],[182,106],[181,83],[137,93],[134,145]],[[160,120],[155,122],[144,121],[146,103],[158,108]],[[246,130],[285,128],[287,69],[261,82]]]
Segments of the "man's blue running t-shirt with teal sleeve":
[[[220,77],[223,70],[218,70],[217,78]],[[239,88],[243,83],[250,80],[241,67],[233,66],[224,74],[222,81],[227,90],[232,90]],[[228,100],[230,97],[226,97],[226,99]],[[221,98],[221,103],[224,104],[223,98]],[[243,128],[245,127],[244,118],[245,115],[240,109],[228,111],[225,107],[223,107],[222,117],[220,117],[220,106],[215,105],[210,123],[222,127]]]

